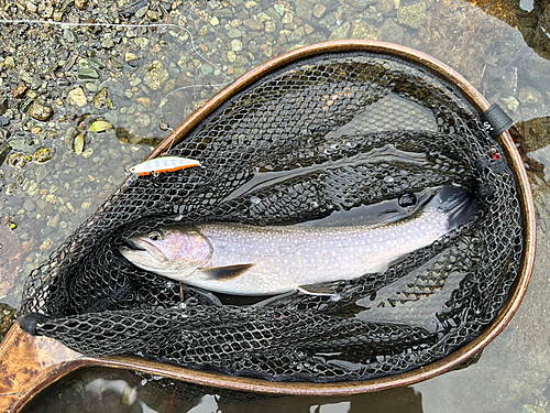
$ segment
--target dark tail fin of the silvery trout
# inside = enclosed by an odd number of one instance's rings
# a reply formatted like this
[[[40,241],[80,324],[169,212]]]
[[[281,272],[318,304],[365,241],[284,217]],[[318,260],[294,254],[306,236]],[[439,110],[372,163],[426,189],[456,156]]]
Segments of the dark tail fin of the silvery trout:
[[[449,218],[449,230],[459,228],[481,209],[480,202],[463,188],[444,186],[427,205],[443,210]]]

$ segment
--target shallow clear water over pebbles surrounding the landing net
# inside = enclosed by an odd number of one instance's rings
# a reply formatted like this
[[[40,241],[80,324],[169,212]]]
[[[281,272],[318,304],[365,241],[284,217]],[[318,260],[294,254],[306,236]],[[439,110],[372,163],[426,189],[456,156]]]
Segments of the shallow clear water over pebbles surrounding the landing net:
[[[191,43],[188,33],[176,28],[140,30],[130,35],[122,32],[127,29],[121,29],[120,43],[107,47],[109,44],[101,45],[100,42],[87,45],[87,39],[94,37],[91,29],[50,26],[41,34],[44,28],[31,24],[25,26],[30,31],[23,34],[21,31],[10,32],[13,24],[0,23],[0,35],[6,36],[0,46],[3,58],[0,59],[3,65],[0,88],[7,94],[11,94],[32,72],[32,65],[25,66],[21,58],[16,59],[14,68],[7,66],[7,57],[15,54],[14,40],[10,35],[30,36],[29,47],[44,35],[43,47],[55,46],[57,54],[65,53],[61,51],[64,48],[67,54],[64,58],[69,63],[73,52],[78,50],[80,58],[73,63],[75,67],[67,69],[65,66],[58,72],[78,69],[84,74],[80,77],[90,77],[90,72],[85,69],[91,67],[99,75],[98,79],[72,80],[70,86],[63,86],[64,83],[59,81],[62,77],[58,77],[55,84],[61,86],[50,91],[57,93],[64,101],[63,106],[55,107],[56,117],[48,122],[29,122],[29,119],[19,122],[15,116],[9,126],[21,132],[21,137],[18,134],[18,151],[31,155],[37,146],[45,145],[55,150],[55,156],[45,164],[28,162],[22,169],[6,163],[0,166],[6,183],[0,196],[1,215],[7,216],[4,220],[11,217],[16,224],[18,228],[9,233],[19,236],[19,240],[13,242],[19,242],[22,252],[19,260],[10,260],[13,268],[0,272],[0,281],[10,280],[10,289],[0,292],[0,296],[4,295],[1,301],[15,304],[24,276],[114,191],[124,177],[124,166],[138,163],[167,134],[166,130],[162,130],[166,129],[165,122],[175,127],[220,89],[220,86],[209,85],[223,84],[228,77],[237,78],[268,57],[298,45],[329,37],[360,37],[394,42],[432,55],[466,77],[491,102],[498,102],[517,122],[521,134],[518,144],[526,154],[537,206],[538,252],[531,284],[512,323],[485,348],[476,363],[406,389],[350,398],[296,396],[237,403],[227,403],[211,389],[195,389],[195,398],[180,401],[154,382],[143,384],[141,377],[130,372],[88,369],[75,372],[41,393],[36,403],[26,411],[550,411],[547,407],[547,398],[550,396],[547,389],[550,332],[546,328],[547,309],[550,307],[547,298],[550,280],[546,272],[550,257],[547,230],[550,175],[544,169],[550,163],[550,64],[537,54],[543,54],[549,42],[548,37],[539,35],[544,34],[542,30],[537,32],[532,29],[537,26],[537,9],[527,13],[534,8],[529,1],[519,2],[516,9],[506,1],[477,1],[476,6],[463,0],[345,0],[322,3],[326,10],[320,18],[316,15],[321,9],[309,12],[311,6],[317,4],[315,1],[280,1],[276,4],[174,2],[173,9],[172,3],[166,3],[173,23],[190,28],[195,43]],[[0,6],[3,8],[6,4],[0,1]],[[123,1],[117,4],[120,8],[130,6]],[[92,8],[97,8],[92,17],[98,21],[101,12],[108,13],[107,4],[91,1],[86,12]],[[29,11],[28,15],[36,19],[40,13],[38,7],[37,13]],[[67,12],[64,21],[72,21],[72,15],[77,13],[82,14],[76,9]],[[550,9],[546,13],[549,14]],[[257,29],[256,23],[248,20],[253,20],[254,15],[256,22],[262,21],[263,29],[260,35],[253,36],[252,29]],[[151,23],[146,15],[143,21]],[[549,21],[542,17],[538,24],[550,30]],[[314,31],[308,34],[311,29],[306,25]],[[33,32],[33,29],[36,30]],[[235,29],[240,36],[237,36]],[[120,34],[114,29],[105,31],[114,39]],[[87,50],[94,48],[98,52],[90,57]],[[31,52],[28,58],[32,61]],[[122,68],[114,70],[117,76],[110,75],[107,62],[117,62],[112,52],[123,56]],[[139,58],[124,58],[127,53]],[[42,65],[51,64],[47,57],[42,61]],[[162,67],[155,62],[160,62]],[[8,64],[11,65],[10,62]],[[162,79],[164,83],[156,88],[155,81]],[[32,76],[30,80],[32,83]],[[173,85],[169,84],[172,80]],[[89,101],[79,106],[75,99],[67,97],[75,87],[79,87],[88,100],[107,87],[113,109],[98,108]],[[86,113],[90,116],[85,117]],[[110,122],[114,128],[99,133],[90,131],[92,122],[98,119]],[[82,133],[85,137],[78,140]],[[82,141],[84,148],[78,154],[76,145]],[[2,221],[0,233],[8,228]],[[0,250],[0,254],[3,251]],[[13,253],[8,258],[13,258]],[[0,259],[6,259],[6,256],[0,256]],[[16,280],[11,281],[15,275]]]

